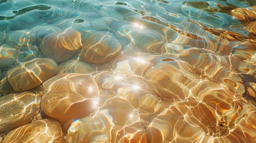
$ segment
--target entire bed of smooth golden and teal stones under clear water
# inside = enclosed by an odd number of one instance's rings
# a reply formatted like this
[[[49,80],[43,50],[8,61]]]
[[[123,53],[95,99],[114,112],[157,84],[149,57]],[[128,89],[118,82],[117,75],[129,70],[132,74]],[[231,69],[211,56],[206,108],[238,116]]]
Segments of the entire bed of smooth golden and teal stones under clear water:
[[[197,48],[146,20],[88,23],[0,31],[0,142],[256,142],[251,43]]]

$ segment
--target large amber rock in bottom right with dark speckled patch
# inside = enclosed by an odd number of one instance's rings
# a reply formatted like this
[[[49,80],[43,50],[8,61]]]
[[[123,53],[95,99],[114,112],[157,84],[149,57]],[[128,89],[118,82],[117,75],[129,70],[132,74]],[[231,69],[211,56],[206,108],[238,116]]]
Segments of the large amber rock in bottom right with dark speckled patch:
[[[244,143],[255,141],[253,134],[245,132],[237,126],[238,124],[235,125],[235,121],[229,121],[228,116],[219,116],[210,105],[194,99],[171,104],[153,118],[147,127],[149,142]],[[236,115],[233,117],[236,118]],[[251,127],[250,130],[252,130]]]

